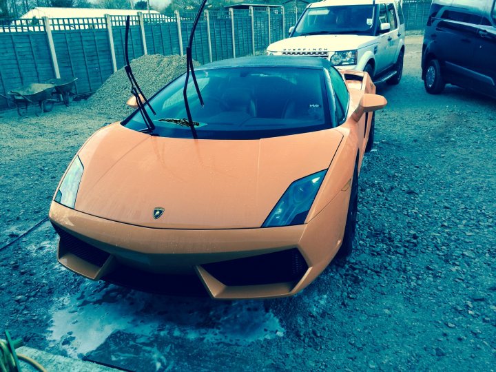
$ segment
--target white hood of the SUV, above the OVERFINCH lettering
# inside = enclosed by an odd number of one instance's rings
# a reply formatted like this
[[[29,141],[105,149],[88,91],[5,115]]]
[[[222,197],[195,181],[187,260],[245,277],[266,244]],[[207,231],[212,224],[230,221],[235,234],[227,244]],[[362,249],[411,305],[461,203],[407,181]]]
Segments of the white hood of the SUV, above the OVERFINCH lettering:
[[[309,35],[290,37],[272,43],[267,50],[271,52],[305,52],[312,50],[353,50],[377,43],[377,38],[367,35]]]

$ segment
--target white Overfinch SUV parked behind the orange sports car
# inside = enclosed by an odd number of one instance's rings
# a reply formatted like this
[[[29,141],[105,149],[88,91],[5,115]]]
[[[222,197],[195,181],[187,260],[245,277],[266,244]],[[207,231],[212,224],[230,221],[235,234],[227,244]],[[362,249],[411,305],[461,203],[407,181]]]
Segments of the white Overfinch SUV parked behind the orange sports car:
[[[324,0],[311,3],[289,38],[268,54],[320,56],[336,68],[368,72],[375,83],[400,83],[405,25],[397,0]]]

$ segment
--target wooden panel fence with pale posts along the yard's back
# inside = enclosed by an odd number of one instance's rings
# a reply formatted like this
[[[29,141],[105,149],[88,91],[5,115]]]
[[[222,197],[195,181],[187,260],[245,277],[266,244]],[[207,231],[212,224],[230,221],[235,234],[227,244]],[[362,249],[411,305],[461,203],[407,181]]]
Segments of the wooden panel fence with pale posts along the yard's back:
[[[428,5],[404,1],[407,29],[423,28]],[[415,10],[413,7],[415,6]],[[139,14],[130,22],[130,59],[186,51],[194,13]],[[192,49],[200,63],[261,54],[287,37],[298,10],[205,10]],[[76,94],[91,94],[125,64],[125,17],[17,19],[0,24],[0,93],[54,77],[79,78]],[[9,105],[0,96],[0,108]]]

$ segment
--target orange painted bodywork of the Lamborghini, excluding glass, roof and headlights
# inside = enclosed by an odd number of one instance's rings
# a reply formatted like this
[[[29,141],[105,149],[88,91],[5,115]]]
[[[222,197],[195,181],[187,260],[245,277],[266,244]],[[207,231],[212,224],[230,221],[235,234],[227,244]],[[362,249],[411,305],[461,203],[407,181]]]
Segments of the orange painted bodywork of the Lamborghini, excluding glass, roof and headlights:
[[[360,170],[369,138],[372,115],[364,112],[386,105],[382,96],[364,97],[375,93],[368,74],[342,74],[351,96],[349,113],[345,123],[329,130],[217,141],[153,137],[119,123],[102,128],[79,151],[92,172],[83,172],[74,209],[52,202],[50,220],[110,257],[96,267],[59,247],[59,262],[94,280],[119,265],[196,272],[214,298],[298,293],[342,243],[355,161]],[[260,228],[294,180],[327,168],[304,225]],[[165,209],[157,220],[155,207]],[[296,284],[227,287],[201,266],[293,247],[308,265]]]

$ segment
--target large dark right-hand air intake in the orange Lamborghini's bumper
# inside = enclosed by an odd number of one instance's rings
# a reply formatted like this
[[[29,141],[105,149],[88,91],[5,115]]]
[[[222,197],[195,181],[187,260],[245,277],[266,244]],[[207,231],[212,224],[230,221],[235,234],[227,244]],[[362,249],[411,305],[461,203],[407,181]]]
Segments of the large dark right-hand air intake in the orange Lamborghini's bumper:
[[[219,282],[227,286],[268,285],[299,282],[308,269],[298,249],[287,249],[236,260],[202,265]]]

